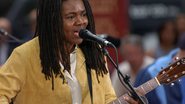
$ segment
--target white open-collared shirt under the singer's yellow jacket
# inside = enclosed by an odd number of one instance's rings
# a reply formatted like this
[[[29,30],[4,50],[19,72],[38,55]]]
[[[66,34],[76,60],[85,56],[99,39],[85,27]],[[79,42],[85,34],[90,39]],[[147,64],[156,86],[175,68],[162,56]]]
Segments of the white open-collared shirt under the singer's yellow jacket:
[[[76,49],[70,54],[70,65],[71,65],[71,75],[68,73],[68,71],[65,70],[64,76],[71,90],[72,104],[81,104],[82,103],[81,87],[75,75]],[[64,69],[61,63],[60,66],[62,69]]]

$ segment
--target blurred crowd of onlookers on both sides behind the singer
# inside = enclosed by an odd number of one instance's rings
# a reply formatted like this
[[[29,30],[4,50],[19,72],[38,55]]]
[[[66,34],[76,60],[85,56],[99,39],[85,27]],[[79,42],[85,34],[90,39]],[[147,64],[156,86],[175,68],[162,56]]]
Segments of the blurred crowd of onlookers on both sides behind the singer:
[[[35,31],[36,0],[1,0],[0,1],[0,29],[6,30],[24,42],[30,40]],[[131,76],[131,83],[139,86],[145,81],[155,77],[175,56],[182,53],[185,44],[185,14],[181,13],[174,19],[164,20],[154,34],[123,35],[119,47],[123,62],[119,69],[123,74]],[[184,39],[184,40],[183,40]],[[2,65],[12,50],[22,43],[0,35],[0,65]],[[180,49],[179,49],[180,48]],[[181,56],[185,56],[182,54]],[[113,87],[117,96],[123,95],[127,90],[120,83],[115,69],[111,73]],[[185,104],[182,91],[185,86],[176,81],[175,85],[159,87],[146,97],[149,104]],[[183,83],[183,84],[181,84]],[[160,92],[160,94],[159,94]],[[155,96],[155,97],[154,97]]]

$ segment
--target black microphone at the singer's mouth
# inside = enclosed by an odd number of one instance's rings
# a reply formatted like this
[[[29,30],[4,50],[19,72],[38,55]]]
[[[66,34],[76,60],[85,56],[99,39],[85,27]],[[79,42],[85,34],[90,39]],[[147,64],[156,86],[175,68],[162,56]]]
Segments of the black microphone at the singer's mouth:
[[[96,36],[95,34],[91,33],[87,29],[81,29],[79,32],[79,36],[84,40],[94,41],[104,46],[112,45],[111,42],[107,41],[106,39]]]

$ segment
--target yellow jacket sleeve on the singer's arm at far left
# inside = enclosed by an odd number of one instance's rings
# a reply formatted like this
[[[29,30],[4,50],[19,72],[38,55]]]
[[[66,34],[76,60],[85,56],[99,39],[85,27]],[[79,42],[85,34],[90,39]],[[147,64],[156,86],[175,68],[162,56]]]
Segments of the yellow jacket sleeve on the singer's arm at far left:
[[[0,68],[0,95],[6,96],[10,102],[25,83],[28,59],[21,50],[14,50],[6,63]]]

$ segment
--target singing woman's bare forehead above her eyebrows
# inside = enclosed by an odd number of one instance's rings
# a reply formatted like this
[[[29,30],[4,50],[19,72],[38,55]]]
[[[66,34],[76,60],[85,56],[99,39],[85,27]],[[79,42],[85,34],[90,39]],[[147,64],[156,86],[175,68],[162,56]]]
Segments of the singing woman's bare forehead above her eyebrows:
[[[62,5],[64,13],[85,10],[82,0],[66,0]]]

